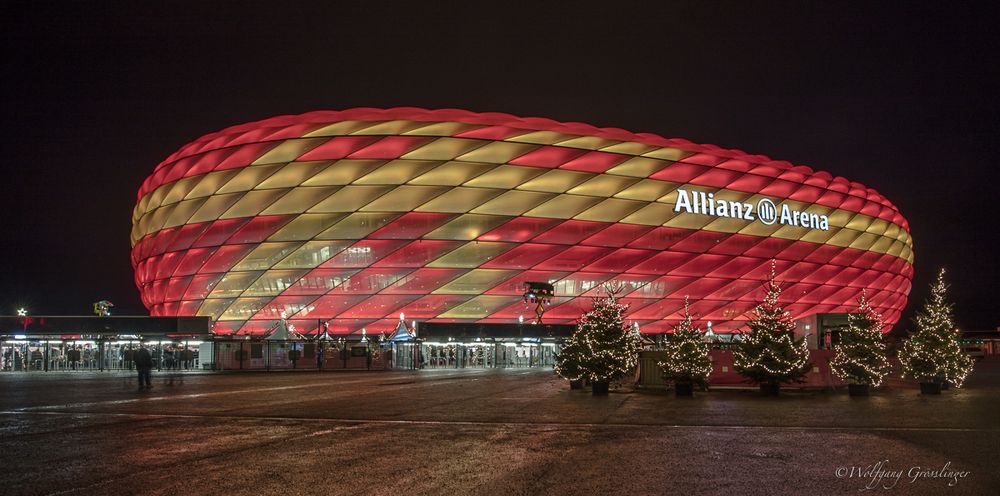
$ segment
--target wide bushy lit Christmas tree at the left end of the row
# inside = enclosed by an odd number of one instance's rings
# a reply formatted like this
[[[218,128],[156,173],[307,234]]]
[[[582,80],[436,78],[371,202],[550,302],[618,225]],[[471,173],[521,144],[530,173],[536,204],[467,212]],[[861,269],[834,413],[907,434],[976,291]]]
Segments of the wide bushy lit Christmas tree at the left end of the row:
[[[605,291],[608,295],[594,299],[593,309],[580,317],[556,365],[564,378],[593,383],[594,394],[606,393],[608,383],[634,372],[642,346],[639,335],[625,323],[628,305],[618,302],[620,289],[605,286]]]

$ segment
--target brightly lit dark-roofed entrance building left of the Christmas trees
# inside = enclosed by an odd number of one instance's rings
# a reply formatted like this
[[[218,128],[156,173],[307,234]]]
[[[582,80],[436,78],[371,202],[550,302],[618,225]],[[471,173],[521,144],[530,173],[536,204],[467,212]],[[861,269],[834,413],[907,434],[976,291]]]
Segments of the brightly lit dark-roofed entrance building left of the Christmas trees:
[[[569,324],[478,324],[420,322],[417,368],[551,367]]]

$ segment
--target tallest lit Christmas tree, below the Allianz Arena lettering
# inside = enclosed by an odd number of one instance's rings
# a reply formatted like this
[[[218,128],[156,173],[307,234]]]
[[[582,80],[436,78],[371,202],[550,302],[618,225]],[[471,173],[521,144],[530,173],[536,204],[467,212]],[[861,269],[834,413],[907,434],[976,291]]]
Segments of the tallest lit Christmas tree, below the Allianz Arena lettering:
[[[805,339],[795,339],[795,322],[778,304],[781,287],[774,272],[772,261],[764,301],[751,312],[749,331],[741,333],[740,343],[733,349],[736,372],[772,394],[782,383],[801,382],[811,365]]]

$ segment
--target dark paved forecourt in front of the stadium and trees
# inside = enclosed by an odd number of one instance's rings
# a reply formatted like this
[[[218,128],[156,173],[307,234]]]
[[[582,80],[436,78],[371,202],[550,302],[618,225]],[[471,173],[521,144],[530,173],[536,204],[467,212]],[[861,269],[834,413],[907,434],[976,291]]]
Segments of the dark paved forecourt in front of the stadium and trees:
[[[124,374],[0,373],[0,392],[0,494],[770,495],[872,486],[940,495],[1000,487],[1000,360],[980,362],[968,387],[940,397],[899,386],[870,398],[752,390],[592,397],[551,370],[528,369],[163,372],[151,391]],[[946,466],[957,474],[931,472]]]

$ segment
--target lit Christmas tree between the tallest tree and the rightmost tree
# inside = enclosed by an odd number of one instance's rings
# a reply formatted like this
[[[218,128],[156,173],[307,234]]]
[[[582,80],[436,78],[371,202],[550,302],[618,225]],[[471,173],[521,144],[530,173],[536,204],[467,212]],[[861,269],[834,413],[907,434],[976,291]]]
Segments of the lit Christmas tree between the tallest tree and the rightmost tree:
[[[847,329],[840,332],[840,343],[830,368],[837,377],[851,384],[878,387],[889,373],[882,342],[882,315],[869,304],[865,294],[858,299],[858,310],[847,316]]]

